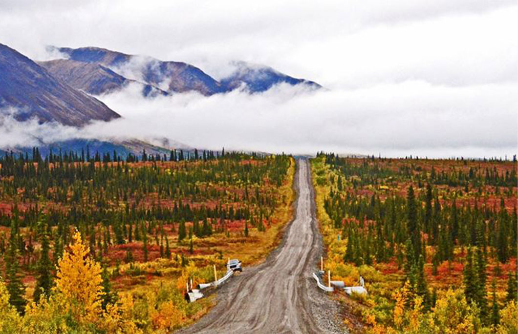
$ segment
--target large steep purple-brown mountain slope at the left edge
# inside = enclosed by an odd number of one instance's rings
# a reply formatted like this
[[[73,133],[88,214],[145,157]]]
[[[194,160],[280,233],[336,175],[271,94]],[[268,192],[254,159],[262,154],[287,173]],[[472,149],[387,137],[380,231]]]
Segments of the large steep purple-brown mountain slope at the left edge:
[[[0,108],[15,107],[14,117],[81,126],[120,115],[94,97],[52,77],[23,54],[0,44]]]

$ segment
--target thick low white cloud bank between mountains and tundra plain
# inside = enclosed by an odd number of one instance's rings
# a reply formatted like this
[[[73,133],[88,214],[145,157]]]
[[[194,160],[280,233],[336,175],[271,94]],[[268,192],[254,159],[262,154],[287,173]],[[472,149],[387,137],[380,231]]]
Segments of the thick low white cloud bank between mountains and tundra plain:
[[[70,138],[165,137],[207,149],[428,157],[511,157],[518,146],[515,83],[422,81],[358,90],[279,85],[262,94],[143,98],[137,86],[100,96],[123,119],[81,129],[19,123],[0,113],[0,147]]]

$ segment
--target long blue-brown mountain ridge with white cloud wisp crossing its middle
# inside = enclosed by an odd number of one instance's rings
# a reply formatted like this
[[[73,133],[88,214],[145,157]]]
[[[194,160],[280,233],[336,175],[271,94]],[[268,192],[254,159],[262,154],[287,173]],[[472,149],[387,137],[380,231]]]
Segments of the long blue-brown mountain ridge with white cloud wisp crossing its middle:
[[[186,63],[163,62],[152,57],[94,47],[55,49],[71,60],[103,65],[124,77],[132,77],[168,93],[197,91],[208,96],[223,92],[217,80]]]

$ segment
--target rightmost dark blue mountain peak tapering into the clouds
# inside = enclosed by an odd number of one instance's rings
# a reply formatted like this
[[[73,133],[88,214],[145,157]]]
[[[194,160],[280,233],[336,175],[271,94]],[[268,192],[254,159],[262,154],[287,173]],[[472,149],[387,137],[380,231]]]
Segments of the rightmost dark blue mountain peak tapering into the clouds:
[[[267,91],[273,85],[279,83],[304,84],[314,89],[322,87],[313,81],[296,79],[268,66],[252,65],[245,62],[234,62],[232,65],[235,67],[234,72],[220,81],[226,91],[244,87],[251,93],[258,93]]]

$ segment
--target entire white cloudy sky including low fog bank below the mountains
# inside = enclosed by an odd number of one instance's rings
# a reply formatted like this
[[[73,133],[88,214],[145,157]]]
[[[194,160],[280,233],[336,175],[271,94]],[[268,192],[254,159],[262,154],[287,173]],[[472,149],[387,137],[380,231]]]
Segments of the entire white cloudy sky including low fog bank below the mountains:
[[[98,46],[188,62],[217,79],[233,61],[264,64],[325,88],[145,99],[129,86],[99,97],[121,120],[76,130],[4,116],[0,144],[45,133],[295,154],[511,156],[517,14],[507,0],[0,0],[0,42],[35,60],[49,59],[46,45]]]

